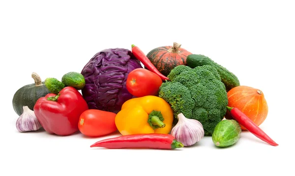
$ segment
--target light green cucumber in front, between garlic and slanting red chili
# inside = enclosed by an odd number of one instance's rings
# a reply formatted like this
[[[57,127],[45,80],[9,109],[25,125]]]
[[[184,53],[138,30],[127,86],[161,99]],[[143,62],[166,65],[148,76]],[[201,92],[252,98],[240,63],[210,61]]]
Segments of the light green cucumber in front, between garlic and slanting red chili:
[[[222,120],[214,128],[212,141],[217,147],[232,146],[239,140],[241,131],[236,120]]]

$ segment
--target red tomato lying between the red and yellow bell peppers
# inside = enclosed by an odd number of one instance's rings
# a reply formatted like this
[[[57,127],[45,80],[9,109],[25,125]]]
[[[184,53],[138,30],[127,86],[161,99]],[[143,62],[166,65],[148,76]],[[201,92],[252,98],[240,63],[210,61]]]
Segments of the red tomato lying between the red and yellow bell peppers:
[[[80,132],[89,137],[104,136],[117,131],[116,114],[96,109],[84,111],[79,119]]]

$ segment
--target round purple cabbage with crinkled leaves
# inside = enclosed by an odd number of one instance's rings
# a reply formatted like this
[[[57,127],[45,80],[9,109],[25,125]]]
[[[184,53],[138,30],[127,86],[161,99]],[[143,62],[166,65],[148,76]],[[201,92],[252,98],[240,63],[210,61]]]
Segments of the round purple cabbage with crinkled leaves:
[[[125,101],[134,98],[126,88],[126,80],[136,68],[142,68],[142,65],[128,49],[106,49],[96,53],[81,72],[86,82],[82,95],[89,109],[117,114]]]

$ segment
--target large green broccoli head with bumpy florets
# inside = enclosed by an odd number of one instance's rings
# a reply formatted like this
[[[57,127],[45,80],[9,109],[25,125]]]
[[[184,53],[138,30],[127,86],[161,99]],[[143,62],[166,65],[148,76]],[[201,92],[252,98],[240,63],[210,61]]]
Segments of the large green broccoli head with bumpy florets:
[[[203,125],[205,135],[211,136],[215,126],[226,114],[228,104],[225,85],[217,70],[210,65],[190,68],[178,65],[168,75],[170,81],[159,88],[159,97],[167,101],[177,115],[196,119]]]

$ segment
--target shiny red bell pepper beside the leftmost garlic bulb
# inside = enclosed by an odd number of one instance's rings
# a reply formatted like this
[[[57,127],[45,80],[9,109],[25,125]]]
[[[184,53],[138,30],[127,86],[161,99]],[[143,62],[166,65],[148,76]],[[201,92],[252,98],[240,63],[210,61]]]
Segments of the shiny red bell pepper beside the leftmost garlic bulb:
[[[34,113],[45,131],[67,136],[79,130],[80,115],[88,109],[87,102],[77,89],[65,87],[59,94],[49,93],[39,98]]]

